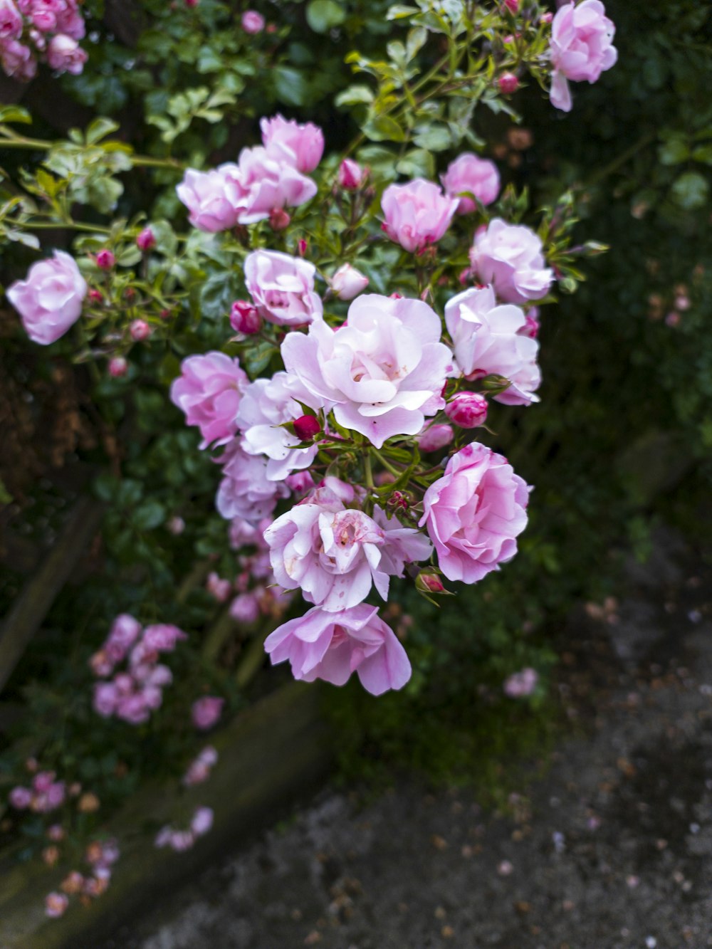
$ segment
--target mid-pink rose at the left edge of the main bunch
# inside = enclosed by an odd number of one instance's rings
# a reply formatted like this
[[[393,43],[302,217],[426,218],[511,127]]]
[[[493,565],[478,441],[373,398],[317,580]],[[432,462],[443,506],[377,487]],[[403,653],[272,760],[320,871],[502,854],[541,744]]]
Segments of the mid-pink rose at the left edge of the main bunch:
[[[235,417],[248,378],[239,360],[221,352],[189,356],[171,383],[171,401],[185,413],[186,425],[197,425],[200,448],[225,445],[237,431]]]

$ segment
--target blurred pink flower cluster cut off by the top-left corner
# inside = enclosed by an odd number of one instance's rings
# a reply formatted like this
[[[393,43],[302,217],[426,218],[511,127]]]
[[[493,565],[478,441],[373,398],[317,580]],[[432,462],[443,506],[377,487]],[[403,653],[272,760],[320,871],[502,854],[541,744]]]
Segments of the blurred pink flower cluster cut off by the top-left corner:
[[[22,83],[34,77],[38,60],[76,76],[87,59],[77,42],[84,31],[77,0],[0,0],[0,64]]]

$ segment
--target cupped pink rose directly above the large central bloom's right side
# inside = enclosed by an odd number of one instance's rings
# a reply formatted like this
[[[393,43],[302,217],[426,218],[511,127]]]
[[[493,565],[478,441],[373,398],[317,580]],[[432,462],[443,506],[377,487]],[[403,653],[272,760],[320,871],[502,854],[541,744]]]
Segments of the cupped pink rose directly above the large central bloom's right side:
[[[422,251],[447,231],[458,204],[457,198],[443,195],[425,178],[391,184],[381,198],[384,231],[406,251]]]

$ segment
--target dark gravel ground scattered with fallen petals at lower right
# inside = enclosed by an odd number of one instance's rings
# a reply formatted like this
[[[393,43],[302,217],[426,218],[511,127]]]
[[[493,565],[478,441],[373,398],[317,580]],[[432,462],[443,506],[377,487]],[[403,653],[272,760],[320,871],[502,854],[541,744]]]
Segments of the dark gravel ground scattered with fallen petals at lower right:
[[[322,792],[105,949],[712,946],[709,579],[666,534],[582,606],[558,687],[583,727],[508,813]]]

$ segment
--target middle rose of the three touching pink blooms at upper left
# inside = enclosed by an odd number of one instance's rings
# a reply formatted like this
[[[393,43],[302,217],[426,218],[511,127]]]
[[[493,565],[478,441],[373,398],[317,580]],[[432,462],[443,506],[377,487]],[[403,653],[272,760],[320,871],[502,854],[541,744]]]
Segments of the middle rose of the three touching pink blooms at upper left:
[[[296,208],[316,194],[316,183],[294,166],[290,149],[273,143],[243,148],[237,159],[236,181],[241,190],[237,220],[254,224],[275,209]]]

